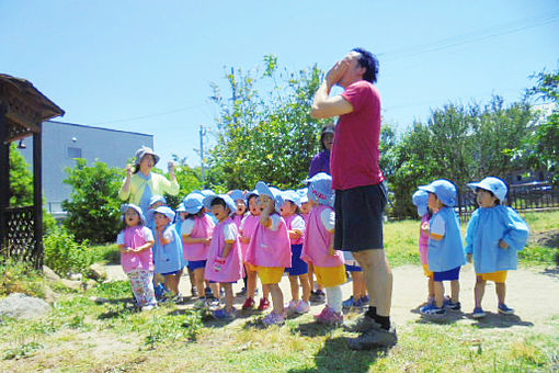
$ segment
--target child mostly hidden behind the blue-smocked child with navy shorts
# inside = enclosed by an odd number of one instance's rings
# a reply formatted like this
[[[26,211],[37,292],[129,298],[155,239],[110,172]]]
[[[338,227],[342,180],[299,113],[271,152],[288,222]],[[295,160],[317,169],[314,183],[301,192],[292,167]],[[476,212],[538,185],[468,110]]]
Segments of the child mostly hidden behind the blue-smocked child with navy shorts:
[[[435,283],[433,280],[433,272],[429,270],[429,222],[431,221],[431,212],[429,211],[429,193],[422,190],[418,190],[412,196],[413,204],[418,207],[418,214],[421,216],[420,226],[420,260],[423,267],[423,273],[427,280],[427,305],[435,303]]]

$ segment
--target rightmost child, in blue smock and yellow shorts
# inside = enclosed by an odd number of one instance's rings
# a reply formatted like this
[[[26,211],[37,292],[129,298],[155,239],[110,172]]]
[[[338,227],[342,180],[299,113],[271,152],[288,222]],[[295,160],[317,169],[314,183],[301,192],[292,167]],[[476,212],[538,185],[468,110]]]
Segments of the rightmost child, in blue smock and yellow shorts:
[[[518,213],[502,204],[507,188],[501,179],[489,177],[480,182],[469,183],[468,187],[476,191],[479,204],[479,208],[471,215],[466,235],[468,261],[471,262],[474,258],[476,269],[476,306],[471,316],[486,316],[481,299],[487,281],[495,283],[499,313],[513,314],[514,309],[504,303],[506,273],[516,269],[516,253],[526,245],[528,225]]]

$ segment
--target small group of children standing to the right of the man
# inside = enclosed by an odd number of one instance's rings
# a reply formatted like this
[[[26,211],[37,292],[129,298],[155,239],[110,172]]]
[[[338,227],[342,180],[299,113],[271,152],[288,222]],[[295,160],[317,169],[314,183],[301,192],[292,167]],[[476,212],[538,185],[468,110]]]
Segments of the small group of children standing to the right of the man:
[[[495,283],[498,312],[513,314],[505,303],[505,281],[509,270],[517,267],[517,251],[528,238],[528,226],[511,207],[503,205],[507,187],[499,178],[488,177],[468,184],[477,196],[479,208],[468,224],[466,246],[458,216],[457,189],[448,180],[435,180],[419,187],[413,194],[413,204],[422,217],[420,228],[420,257],[429,279],[429,297],[421,314],[441,316],[449,310],[459,310],[459,274],[466,261],[474,261],[476,286],[474,291],[474,318],[486,316],[481,307],[487,281]],[[450,282],[450,296],[444,296],[444,281]]]

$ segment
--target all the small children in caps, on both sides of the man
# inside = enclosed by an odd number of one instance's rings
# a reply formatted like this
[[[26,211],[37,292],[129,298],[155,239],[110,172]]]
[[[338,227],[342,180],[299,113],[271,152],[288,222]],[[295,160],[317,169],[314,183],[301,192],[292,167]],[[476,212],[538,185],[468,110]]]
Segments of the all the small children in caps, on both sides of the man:
[[[270,307],[271,295],[273,310],[264,317],[265,325],[282,324],[288,314],[308,313],[311,296],[322,289],[327,305],[315,316],[317,323],[338,325],[343,321],[343,307],[366,306],[369,298],[361,269],[351,256],[344,258],[333,249],[332,179],[321,172],[306,182],[307,188],[298,191],[281,191],[262,181],[248,193],[194,191],[176,208],[179,215],[162,196],[152,196],[147,219],[137,205],[123,205],[124,229],[117,244],[137,304],[142,310],[155,307],[159,283],[169,292],[167,297],[179,299],[179,282],[187,268],[193,296],[199,297],[198,305],[217,307],[216,318],[236,316],[232,284],[241,279],[243,309],[256,306],[258,278],[262,283],[258,309]],[[481,299],[487,281],[495,283],[498,312],[513,313],[505,304],[506,273],[516,269],[528,227],[503,205],[507,188],[501,179],[490,177],[468,185],[477,193],[479,208],[469,222],[466,247],[454,210],[457,189],[453,182],[436,180],[419,187],[412,196],[422,218],[420,257],[429,278],[427,303],[420,309],[424,315],[460,309],[459,273],[467,260],[474,261],[477,279],[472,316],[484,316]],[[343,302],[346,271],[352,273],[354,295]],[[290,284],[287,306],[280,287],[284,272]],[[449,297],[444,296],[444,281],[450,282]],[[221,308],[220,296],[225,298]]]

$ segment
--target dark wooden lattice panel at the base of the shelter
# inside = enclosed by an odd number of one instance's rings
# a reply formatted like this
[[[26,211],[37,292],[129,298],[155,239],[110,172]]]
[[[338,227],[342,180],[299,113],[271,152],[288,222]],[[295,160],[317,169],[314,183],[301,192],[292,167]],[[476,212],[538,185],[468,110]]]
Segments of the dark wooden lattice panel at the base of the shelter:
[[[33,206],[7,208],[4,218],[7,233],[0,257],[31,262],[34,268],[41,268],[43,249],[35,239]]]

